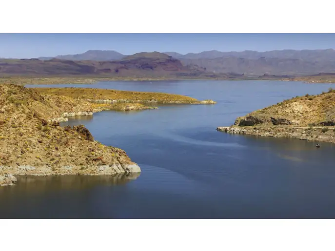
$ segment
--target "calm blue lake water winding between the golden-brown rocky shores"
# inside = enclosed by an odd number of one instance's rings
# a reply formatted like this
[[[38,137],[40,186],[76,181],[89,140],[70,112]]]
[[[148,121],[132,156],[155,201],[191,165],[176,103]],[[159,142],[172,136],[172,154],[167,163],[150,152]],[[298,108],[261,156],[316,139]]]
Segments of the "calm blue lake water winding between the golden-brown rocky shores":
[[[59,86],[59,85],[58,85]],[[60,85],[71,86],[71,85]],[[335,146],[217,132],[237,116],[329,84],[281,81],[120,81],[76,87],[213,99],[71,119],[124,149],[142,173],[21,177],[0,189],[8,218],[334,218]],[[50,86],[48,86],[50,87]]]

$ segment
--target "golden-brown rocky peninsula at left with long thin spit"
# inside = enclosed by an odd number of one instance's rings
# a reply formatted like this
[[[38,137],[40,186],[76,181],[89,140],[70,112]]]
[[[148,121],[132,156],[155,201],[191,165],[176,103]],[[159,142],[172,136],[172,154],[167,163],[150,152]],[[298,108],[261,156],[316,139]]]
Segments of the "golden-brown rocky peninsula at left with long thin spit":
[[[69,116],[103,110],[143,110],[150,104],[214,104],[181,95],[85,88],[25,88],[0,84],[0,186],[15,175],[130,175],[139,166],[125,151],[94,140],[83,125],[59,125]]]

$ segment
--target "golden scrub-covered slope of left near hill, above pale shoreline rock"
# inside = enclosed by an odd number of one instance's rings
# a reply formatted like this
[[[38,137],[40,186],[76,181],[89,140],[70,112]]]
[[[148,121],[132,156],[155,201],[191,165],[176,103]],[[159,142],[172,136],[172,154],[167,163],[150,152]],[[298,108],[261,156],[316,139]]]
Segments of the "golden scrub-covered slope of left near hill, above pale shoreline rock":
[[[33,89],[11,84],[0,85],[0,104],[0,166],[31,165],[51,172],[66,165],[80,168],[110,165],[119,160],[131,163],[123,150],[93,141],[87,136],[88,131],[83,133],[84,128],[63,128],[46,121],[63,112],[94,111],[103,105],[43,96]],[[91,171],[94,168],[83,172]]]

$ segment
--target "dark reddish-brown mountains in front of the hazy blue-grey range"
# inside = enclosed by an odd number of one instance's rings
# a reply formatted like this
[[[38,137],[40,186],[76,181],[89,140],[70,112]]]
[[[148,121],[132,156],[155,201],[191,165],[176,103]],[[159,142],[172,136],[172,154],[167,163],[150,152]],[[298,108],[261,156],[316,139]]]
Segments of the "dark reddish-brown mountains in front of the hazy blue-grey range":
[[[100,53],[100,52],[99,52]],[[86,55],[92,55],[87,53]],[[109,55],[112,55],[110,53]],[[117,54],[113,54],[116,55]],[[78,58],[76,56],[75,58]],[[45,58],[44,58],[45,59]],[[213,75],[197,65],[183,65],[179,59],[163,53],[138,53],[121,60],[68,60],[51,58],[0,59],[0,75],[91,75],[106,77],[229,78],[228,74]]]

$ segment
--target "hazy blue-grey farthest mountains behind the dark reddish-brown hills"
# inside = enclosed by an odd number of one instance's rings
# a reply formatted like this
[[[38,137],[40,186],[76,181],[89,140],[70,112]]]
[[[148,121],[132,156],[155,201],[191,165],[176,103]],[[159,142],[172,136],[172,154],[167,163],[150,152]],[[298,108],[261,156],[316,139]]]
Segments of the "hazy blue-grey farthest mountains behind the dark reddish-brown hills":
[[[182,55],[165,52],[179,59],[183,65],[197,65],[207,72],[236,73],[246,76],[268,75],[311,75],[320,72],[335,72],[335,50],[275,50],[267,52],[205,51]],[[116,51],[90,50],[76,55],[42,57],[41,60],[59,58],[66,60],[114,61],[128,57]]]

